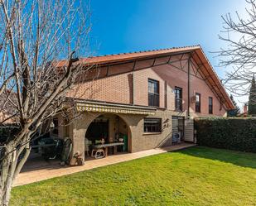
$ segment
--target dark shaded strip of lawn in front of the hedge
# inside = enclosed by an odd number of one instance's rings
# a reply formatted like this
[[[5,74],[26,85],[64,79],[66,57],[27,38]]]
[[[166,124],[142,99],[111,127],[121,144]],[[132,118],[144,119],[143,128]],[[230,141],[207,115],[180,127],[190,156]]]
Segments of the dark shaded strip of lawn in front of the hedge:
[[[256,154],[241,151],[229,151],[206,146],[193,146],[184,150],[175,151],[188,156],[219,160],[222,162],[256,169]]]

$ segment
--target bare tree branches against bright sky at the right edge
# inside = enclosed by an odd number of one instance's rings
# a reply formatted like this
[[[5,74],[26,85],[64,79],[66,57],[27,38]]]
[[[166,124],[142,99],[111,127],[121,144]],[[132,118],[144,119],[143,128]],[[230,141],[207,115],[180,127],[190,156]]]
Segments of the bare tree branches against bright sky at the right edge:
[[[221,48],[221,66],[232,66],[223,81],[226,89],[235,97],[249,95],[253,75],[256,74],[256,3],[246,0],[248,7],[243,17],[236,12],[222,17],[224,21],[223,35],[220,40],[227,46]]]

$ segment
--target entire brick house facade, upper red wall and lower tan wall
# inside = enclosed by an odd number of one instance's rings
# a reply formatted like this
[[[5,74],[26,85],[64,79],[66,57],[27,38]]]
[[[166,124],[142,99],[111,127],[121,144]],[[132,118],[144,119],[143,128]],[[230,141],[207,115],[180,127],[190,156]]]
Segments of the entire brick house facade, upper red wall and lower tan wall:
[[[167,64],[168,63],[168,64]],[[206,117],[225,116],[226,105],[220,103],[220,96],[213,92],[200,71],[200,65],[188,54],[135,60],[116,65],[103,65],[94,69],[75,88],[68,93],[69,97],[89,99],[105,103],[121,103],[128,105],[148,106],[148,79],[159,82],[159,108],[152,116],[138,114],[113,114],[121,117],[128,127],[128,151],[152,149],[171,138],[171,117]],[[96,78],[93,78],[93,74]],[[95,76],[94,76],[95,77]],[[182,111],[175,111],[174,88],[182,89]],[[190,89],[190,90],[188,90]],[[189,94],[190,93],[190,94]],[[200,113],[195,112],[196,103],[193,97],[200,93]],[[209,97],[213,99],[213,114],[209,114]],[[188,113],[189,104],[189,113]],[[73,151],[85,151],[85,134],[89,124],[103,113],[84,112],[79,119],[72,122],[68,134],[74,143]],[[111,118],[111,113],[108,115]],[[144,133],[144,117],[159,117],[162,119],[162,132]],[[187,127],[192,127],[190,123]],[[186,127],[186,124],[185,124]],[[110,128],[110,126],[109,126]],[[192,131],[190,129],[186,131]],[[113,132],[109,136],[114,136]],[[193,141],[193,134],[189,134]],[[110,137],[109,137],[110,138]],[[170,141],[168,141],[170,142]]]

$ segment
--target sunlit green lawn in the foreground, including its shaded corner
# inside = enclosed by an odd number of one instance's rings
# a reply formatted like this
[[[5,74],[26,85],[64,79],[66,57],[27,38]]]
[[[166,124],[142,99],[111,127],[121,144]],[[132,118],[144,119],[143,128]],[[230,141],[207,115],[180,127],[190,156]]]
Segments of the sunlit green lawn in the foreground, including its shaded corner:
[[[11,205],[256,205],[256,154],[196,146],[19,186]]]

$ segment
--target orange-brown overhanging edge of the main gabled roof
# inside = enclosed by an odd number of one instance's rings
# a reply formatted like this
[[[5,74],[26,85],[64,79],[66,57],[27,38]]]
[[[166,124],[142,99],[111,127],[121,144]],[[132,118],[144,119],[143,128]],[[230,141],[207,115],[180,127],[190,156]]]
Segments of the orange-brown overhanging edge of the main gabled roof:
[[[226,109],[234,109],[234,104],[229,98],[229,94],[226,92],[224,85],[220,82],[218,75],[210,65],[210,61],[207,59],[204,51],[200,46],[186,46],[176,47],[165,50],[149,50],[142,52],[124,53],[118,55],[104,55],[94,56],[80,59],[76,64],[85,65],[118,65],[123,62],[147,60],[150,58],[157,58],[166,55],[177,55],[190,53],[196,64],[200,66],[200,72],[205,76],[205,82],[208,84],[211,90],[216,96],[220,97],[221,103],[224,103]],[[58,62],[58,66],[66,65],[67,61],[62,60]],[[92,108],[93,109],[93,108]],[[96,109],[96,108],[94,108]]]

